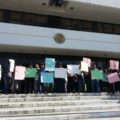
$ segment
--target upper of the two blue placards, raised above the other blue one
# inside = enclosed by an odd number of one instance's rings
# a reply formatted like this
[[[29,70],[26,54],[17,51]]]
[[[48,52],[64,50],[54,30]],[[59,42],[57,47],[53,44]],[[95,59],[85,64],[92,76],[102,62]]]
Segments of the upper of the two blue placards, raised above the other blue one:
[[[45,70],[46,71],[55,71],[55,59],[46,58],[45,59]]]

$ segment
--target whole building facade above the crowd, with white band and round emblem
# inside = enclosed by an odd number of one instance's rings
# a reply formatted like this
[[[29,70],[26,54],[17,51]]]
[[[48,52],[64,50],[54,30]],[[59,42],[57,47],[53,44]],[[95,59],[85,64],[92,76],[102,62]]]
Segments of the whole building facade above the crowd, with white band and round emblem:
[[[83,56],[97,64],[120,58],[120,1],[0,1],[0,62],[40,62],[54,57],[79,63]],[[102,62],[101,62],[102,61]]]

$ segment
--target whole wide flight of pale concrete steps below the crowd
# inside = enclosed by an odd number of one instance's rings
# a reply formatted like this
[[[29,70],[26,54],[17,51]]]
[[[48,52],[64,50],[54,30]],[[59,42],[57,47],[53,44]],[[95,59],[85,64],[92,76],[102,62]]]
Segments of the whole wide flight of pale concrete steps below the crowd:
[[[0,95],[0,120],[120,120],[120,93]]]

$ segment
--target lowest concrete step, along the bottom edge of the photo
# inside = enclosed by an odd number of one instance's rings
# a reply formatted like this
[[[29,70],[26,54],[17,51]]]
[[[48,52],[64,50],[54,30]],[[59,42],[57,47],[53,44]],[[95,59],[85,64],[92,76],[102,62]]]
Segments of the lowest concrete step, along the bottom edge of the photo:
[[[118,120],[120,118],[120,110],[103,110],[103,111],[84,111],[83,113],[64,113],[64,114],[48,114],[48,115],[29,115],[29,116],[5,116],[0,120]],[[98,119],[98,120],[99,120]]]

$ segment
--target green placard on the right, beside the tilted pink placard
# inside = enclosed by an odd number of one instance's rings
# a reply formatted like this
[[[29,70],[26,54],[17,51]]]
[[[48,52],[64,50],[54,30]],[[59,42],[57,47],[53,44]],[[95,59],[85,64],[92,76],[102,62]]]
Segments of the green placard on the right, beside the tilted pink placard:
[[[97,80],[104,79],[103,72],[101,70],[98,70],[98,69],[91,70],[91,77],[92,77],[92,80],[93,79],[97,79]]]

